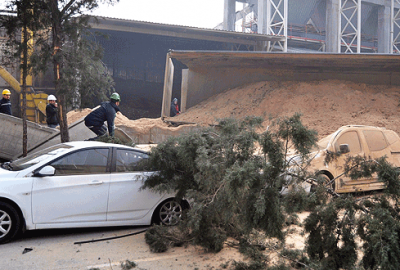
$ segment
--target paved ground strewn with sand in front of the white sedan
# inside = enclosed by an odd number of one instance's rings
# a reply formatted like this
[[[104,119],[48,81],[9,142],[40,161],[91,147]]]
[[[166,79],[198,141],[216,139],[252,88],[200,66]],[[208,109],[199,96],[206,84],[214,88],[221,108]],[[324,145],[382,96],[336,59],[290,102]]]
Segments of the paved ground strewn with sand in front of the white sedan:
[[[147,227],[39,230],[0,245],[1,270],[121,269],[121,262],[137,264],[133,269],[222,269],[221,264],[240,259],[235,250],[204,253],[196,247],[173,248],[156,254],[149,250],[144,233],[87,244],[80,241],[104,239],[135,233]],[[25,250],[25,252],[24,252]]]

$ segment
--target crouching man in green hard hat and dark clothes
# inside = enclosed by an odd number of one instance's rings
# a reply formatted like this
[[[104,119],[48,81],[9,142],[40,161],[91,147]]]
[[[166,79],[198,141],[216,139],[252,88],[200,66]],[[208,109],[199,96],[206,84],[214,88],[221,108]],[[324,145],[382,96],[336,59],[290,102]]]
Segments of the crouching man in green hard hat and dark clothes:
[[[114,120],[117,112],[120,111],[118,108],[120,101],[119,94],[113,93],[110,96],[110,101],[102,102],[97,109],[85,117],[85,125],[97,135],[97,137],[89,140],[96,140],[106,134],[107,126],[110,136],[114,136]],[[107,121],[107,126],[104,124],[105,121]]]

